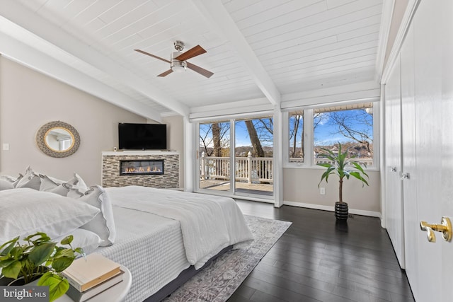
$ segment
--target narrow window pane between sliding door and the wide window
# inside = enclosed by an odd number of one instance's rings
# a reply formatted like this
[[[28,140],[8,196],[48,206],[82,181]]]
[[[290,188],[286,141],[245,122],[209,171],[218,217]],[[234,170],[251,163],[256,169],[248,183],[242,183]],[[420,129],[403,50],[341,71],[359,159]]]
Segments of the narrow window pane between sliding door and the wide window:
[[[304,162],[304,111],[289,112],[289,163]]]

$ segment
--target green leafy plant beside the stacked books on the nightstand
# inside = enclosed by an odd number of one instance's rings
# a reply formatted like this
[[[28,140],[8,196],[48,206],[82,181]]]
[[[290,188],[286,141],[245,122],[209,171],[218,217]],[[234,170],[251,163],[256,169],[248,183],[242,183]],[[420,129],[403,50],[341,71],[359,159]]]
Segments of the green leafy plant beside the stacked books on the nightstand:
[[[81,248],[73,249],[73,236],[61,240],[57,246],[46,233],[35,233],[19,240],[19,236],[0,246],[1,278],[10,278],[12,284],[24,285],[38,280],[38,286],[49,286],[50,301],[63,296],[69,289],[69,282],[60,274],[76,258],[84,255]]]

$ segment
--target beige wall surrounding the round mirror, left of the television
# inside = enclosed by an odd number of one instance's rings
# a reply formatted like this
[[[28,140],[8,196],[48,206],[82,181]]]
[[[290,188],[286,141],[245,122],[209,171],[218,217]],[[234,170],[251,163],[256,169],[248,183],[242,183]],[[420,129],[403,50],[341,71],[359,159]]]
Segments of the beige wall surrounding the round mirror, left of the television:
[[[79,150],[67,158],[52,158],[35,143],[38,129],[60,120],[81,137]],[[39,173],[62,180],[72,173],[88,185],[101,183],[101,151],[117,146],[118,122],[147,122],[65,83],[0,56],[0,173],[18,175],[30,165]]]

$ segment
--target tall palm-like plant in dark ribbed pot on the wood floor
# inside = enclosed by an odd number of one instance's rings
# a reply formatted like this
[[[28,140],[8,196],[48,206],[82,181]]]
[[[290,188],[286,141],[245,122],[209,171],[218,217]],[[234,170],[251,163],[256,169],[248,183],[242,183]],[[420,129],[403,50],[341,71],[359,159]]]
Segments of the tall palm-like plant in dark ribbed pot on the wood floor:
[[[330,163],[318,163],[317,165],[321,165],[321,167],[326,168],[326,171],[321,175],[321,180],[319,181],[319,185],[323,180],[328,181],[328,176],[331,174],[338,175],[339,186],[338,186],[338,202],[335,203],[335,216],[336,219],[346,220],[348,219],[348,203],[343,202],[343,179],[349,179],[350,176],[353,178],[357,178],[362,182],[362,187],[364,185],[368,185],[367,180],[364,178],[365,176],[368,178],[367,173],[363,170],[361,165],[364,165],[365,168],[367,165],[365,163],[361,163],[359,161],[354,161],[354,158],[357,156],[348,156],[349,149],[346,149],[343,152],[342,146],[340,142],[338,142],[338,153],[334,153],[333,151],[325,148],[321,148],[323,151],[326,151],[326,154],[323,154],[326,158],[328,158]]]

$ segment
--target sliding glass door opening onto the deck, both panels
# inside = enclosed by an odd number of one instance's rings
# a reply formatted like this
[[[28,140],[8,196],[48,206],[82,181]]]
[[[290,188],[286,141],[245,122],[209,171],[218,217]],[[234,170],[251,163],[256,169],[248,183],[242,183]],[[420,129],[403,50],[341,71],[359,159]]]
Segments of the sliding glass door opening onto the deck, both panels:
[[[200,123],[200,190],[273,196],[273,117]]]

